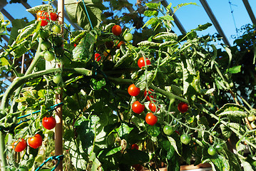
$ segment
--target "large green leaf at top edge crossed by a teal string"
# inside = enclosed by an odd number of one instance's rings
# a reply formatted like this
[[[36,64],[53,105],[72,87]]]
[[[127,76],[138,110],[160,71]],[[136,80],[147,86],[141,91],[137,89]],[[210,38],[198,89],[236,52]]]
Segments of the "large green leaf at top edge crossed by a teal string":
[[[77,0],[66,0],[65,7],[68,13],[69,18],[74,23],[77,23],[81,28],[85,30],[91,30],[91,24],[94,27],[98,27],[101,23],[101,13],[105,7],[100,0],[84,0],[77,1]],[[88,11],[88,16],[86,11]],[[90,24],[91,21],[91,24]]]

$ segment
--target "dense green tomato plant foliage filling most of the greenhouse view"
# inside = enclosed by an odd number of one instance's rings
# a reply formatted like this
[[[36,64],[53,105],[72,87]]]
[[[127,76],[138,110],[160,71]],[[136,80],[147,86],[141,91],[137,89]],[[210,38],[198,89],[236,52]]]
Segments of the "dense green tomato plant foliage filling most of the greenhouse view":
[[[123,27],[121,36],[111,32],[118,24],[112,19],[105,18],[100,25],[101,4],[76,2],[68,1],[66,8],[84,31],[66,28],[56,34],[52,30],[58,25],[56,21],[48,19],[47,26],[41,26],[40,20],[31,21],[18,31],[18,26],[14,27],[14,41],[1,52],[1,76],[9,72],[15,78],[1,96],[3,170],[19,167],[17,163],[35,170],[53,155],[54,132],[44,129],[41,120],[55,115],[60,106],[66,170],[131,170],[138,165],[154,170],[162,162],[168,170],[204,162],[213,170],[242,170],[241,163],[244,170],[255,170],[256,126],[247,118],[255,115],[254,28],[248,26],[236,46],[218,49],[213,45],[214,36],[197,36],[211,24],[178,36],[171,30],[171,4],[164,8],[160,3],[149,3],[140,13],[149,17],[139,27],[143,28],[140,35],[145,36],[133,36],[131,43],[123,38],[130,30]],[[53,12],[51,3],[44,10]],[[110,3],[111,10],[127,5]],[[36,13],[41,7],[29,11]],[[95,17],[92,26],[86,9],[91,11],[89,17]],[[2,27],[7,33],[6,26]],[[46,44],[43,41],[51,47],[41,48]],[[117,48],[120,41],[125,44]],[[54,54],[53,61],[43,59],[48,52]],[[101,60],[95,61],[95,53]],[[23,54],[34,60],[28,63],[26,73],[19,73],[16,60]],[[250,60],[238,58],[241,54]],[[139,67],[139,58],[150,63]],[[54,76],[61,78],[54,83]],[[131,84],[140,88],[136,96],[128,94]],[[54,105],[56,93],[63,94],[63,104]],[[145,105],[139,114],[132,109],[135,101]],[[188,104],[185,110],[178,109],[181,102]],[[149,103],[160,110],[152,111]],[[157,123],[148,125],[147,113],[153,113]],[[43,145],[39,149],[27,147],[24,155],[14,157],[11,143],[36,134],[42,136]],[[132,149],[134,144],[138,149]],[[45,170],[52,168],[51,163],[44,166]]]

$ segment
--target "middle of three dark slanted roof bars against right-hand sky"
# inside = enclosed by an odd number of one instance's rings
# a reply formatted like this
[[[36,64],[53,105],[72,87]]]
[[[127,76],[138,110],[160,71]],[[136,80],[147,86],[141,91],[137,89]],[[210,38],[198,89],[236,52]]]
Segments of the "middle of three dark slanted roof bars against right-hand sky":
[[[222,39],[223,39],[224,43],[227,46],[230,46],[230,42],[227,40],[227,37],[225,36],[224,31],[222,30],[222,28],[221,28],[219,22],[217,21],[217,19],[215,18],[215,15],[213,14],[213,11],[210,9],[210,6],[208,5],[207,1],[200,0],[200,2],[203,5],[203,8],[205,9],[206,13],[210,17],[210,20],[213,22],[213,25],[215,26],[217,32],[220,34],[220,36],[222,36]]]

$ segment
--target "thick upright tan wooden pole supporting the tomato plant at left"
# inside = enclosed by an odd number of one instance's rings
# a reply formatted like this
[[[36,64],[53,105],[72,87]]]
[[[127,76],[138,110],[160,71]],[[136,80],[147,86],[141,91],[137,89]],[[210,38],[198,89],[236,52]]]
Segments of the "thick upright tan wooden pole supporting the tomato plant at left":
[[[58,23],[63,25],[64,23],[64,0],[58,0]],[[63,28],[61,29],[63,33]],[[61,67],[61,66],[57,66]],[[62,102],[62,90],[60,94],[56,93],[55,104]],[[62,120],[62,105],[58,105],[56,108],[56,128],[55,128],[55,155],[63,155],[63,120]],[[57,163],[57,162],[56,162]],[[56,171],[63,171],[63,161],[61,160]]]

